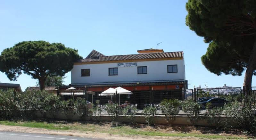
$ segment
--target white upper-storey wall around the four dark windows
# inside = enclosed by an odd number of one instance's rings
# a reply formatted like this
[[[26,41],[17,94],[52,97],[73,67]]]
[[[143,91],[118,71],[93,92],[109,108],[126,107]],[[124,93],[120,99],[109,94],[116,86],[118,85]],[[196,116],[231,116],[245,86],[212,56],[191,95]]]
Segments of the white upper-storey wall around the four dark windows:
[[[167,73],[167,65],[175,64],[178,65],[178,72]],[[147,66],[147,74],[137,74],[137,67],[118,67],[118,75],[109,76],[108,68],[117,67],[117,63],[74,65],[71,84],[185,80],[184,60],[137,62],[137,66]],[[90,76],[81,77],[81,69],[90,69]]]

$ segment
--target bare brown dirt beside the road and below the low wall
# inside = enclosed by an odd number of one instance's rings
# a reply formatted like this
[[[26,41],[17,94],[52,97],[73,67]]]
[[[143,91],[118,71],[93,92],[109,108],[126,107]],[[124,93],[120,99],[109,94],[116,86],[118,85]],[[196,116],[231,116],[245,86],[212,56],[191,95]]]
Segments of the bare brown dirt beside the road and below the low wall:
[[[45,122],[46,120],[37,120],[37,122]],[[63,120],[47,120],[48,123],[61,124],[69,126],[70,128],[90,128],[94,129],[111,129],[110,122],[91,122],[91,121],[63,121]],[[231,131],[225,132],[221,129],[207,128],[207,127],[194,127],[185,125],[153,125],[148,126],[145,124],[120,124],[124,128],[139,128],[141,131],[156,131],[162,133],[183,133],[183,134],[207,134],[207,135],[219,135],[219,136],[235,136],[235,137],[248,137],[244,135],[241,130],[233,129]],[[209,138],[199,138],[193,136],[144,136],[144,135],[114,135],[107,133],[100,133],[100,131],[80,131],[79,128],[70,130],[49,130],[42,128],[29,128],[21,126],[5,126],[0,125],[0,131],[13,131],[13,132],[23,132],[23,133],[40,133],[40,134],[53,134],[53,135],[67,135],[67,136],[81,136],[81,137],[91,137],[91,138],[101,138],[101,139],[118,139],[118,140],[177,140],[177,139],[209,139]]]

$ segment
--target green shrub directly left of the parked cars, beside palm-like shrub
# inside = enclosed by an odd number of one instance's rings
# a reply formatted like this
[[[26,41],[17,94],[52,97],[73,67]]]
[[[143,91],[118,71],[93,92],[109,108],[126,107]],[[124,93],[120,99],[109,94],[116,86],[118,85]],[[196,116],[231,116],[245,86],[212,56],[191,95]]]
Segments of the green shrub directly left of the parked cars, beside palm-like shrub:
[[[182,110],[186,113],[188,116],[188,121],[192,123],[192,125],[195,125],[195,123],[202,119],[201,116],[201,107],[202,105],[198,102],[194,102],[192,99],[185,100],[181,104]]]

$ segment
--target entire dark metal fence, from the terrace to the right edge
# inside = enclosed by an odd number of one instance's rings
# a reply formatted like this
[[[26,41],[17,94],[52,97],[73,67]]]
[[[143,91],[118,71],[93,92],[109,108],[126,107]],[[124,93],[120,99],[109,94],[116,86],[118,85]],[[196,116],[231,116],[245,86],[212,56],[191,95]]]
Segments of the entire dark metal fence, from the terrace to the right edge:
[[[251,88],[251,96],[256,97],[256,87]],[[164,99],[179,99],[186,100],[192,99],[197,101],[202,97],[216,97],[216,98],[225,98],[226,100],[231,100],[232,98],[242,99],[244,98],[243,89],[241,87],[226,87],[226,88],[202,88],[202,89],[186,89],[186,90],[149,90],[149,91],[136,91],[131,95],[117,95],[117,96],[98,96],[100,93],[95,93],[95,95],[86,94],[85,98],[88,102],[95,103],[96,100],[99,100],[100,103],[97,107],[102,110],[99,114],[108,114],[104,110],[104,105],[109,101],[113,103],[123,104],[125,102],[130,103],[137,107],[136,114],[141,115],[145,107],[155,106],[157,107],[156,115],[163,115],[160,110],[160,103]],[[241,106],[242,108],[242,106]],[[207,109],[202,109],[201,114],[207,112]],[[256,109],[254,108],[254,113],[256,114]],[[121,112],[119,112],[121,115]],[[179,112],[179,115],[186,115],[182,109]]]

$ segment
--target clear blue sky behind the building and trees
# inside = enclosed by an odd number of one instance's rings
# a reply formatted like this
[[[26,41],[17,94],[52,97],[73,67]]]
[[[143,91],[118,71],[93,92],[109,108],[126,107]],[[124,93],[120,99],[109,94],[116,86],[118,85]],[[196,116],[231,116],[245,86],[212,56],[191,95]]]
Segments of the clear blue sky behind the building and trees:
[[[93,49],[104,55],[137,54],[158,48],[184,51],[189,88],[241,87],[243,76],[217,76],[202,65],[208,44],[185,25],[187,0],[0,1],[0,52],[21,41],[61,42],[86,57]],[[70,72],[66,74],[70,84]],[[19,83],[22,90],[37,80],[22,74],[10,81],[0,72],[0,82]],[[256,86],[255,76],[252,85]]]

